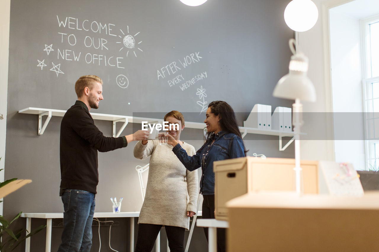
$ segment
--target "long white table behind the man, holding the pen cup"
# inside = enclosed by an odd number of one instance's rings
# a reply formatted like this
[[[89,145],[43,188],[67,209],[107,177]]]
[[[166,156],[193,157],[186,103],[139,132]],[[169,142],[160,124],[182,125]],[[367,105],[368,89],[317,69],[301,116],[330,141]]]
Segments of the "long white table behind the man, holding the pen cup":
[[[134,218],[139,216],[139,212],[120,213],[94,213],[94,218],[131,218],[130,219],[130,251],[134,251]],[[63,218],[63,213],[22,213],[21,217],[26,219],[26,230],[30,232],[31,218],[46,219],[46,252],[51,250],[51,228],[52,219]],[[30,237],[26,239],[25,252],[30,252]]]

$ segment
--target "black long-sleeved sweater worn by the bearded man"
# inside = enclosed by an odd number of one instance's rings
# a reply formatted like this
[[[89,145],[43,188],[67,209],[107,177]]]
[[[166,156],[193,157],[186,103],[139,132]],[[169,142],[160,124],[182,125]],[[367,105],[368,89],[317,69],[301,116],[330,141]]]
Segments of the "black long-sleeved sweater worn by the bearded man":
[[[61,188],[96,193],[99,183],[97,151],[126,147],[124,137],[105,137],[95,126],[88,107],[76,101],[61,122]]]

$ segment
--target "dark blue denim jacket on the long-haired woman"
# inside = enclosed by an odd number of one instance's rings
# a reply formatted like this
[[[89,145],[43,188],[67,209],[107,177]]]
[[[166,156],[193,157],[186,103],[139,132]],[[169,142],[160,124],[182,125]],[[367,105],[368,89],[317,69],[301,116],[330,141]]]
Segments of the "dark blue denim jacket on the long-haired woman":
[[[172,151],[189,171],[202,168],[200,180],[200,192],[203,195],[215,194],[215,173],[213,161],[244,157],[244,144],[240,137],[234,133],[220,131],[210,138],[196,152],[194,156],[188,156],[182,146],[175,145]],[[212,144],[213,142],[213,144]]]

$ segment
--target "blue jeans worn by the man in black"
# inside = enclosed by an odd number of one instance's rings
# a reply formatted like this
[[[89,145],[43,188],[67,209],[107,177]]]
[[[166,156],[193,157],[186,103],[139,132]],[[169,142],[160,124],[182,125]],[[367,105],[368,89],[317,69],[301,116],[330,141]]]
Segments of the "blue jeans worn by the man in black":
[[[89,252],[92,246],[95,194],[65,189],[61,198],[64,208],[63,233],[58,252]]]

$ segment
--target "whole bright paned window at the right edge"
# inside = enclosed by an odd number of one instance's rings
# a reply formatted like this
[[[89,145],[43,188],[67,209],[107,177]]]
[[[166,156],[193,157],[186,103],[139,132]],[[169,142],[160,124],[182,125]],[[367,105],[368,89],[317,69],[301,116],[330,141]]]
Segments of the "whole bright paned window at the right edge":
[[[366,168],[379,170],[379,16],[361,20]]]

